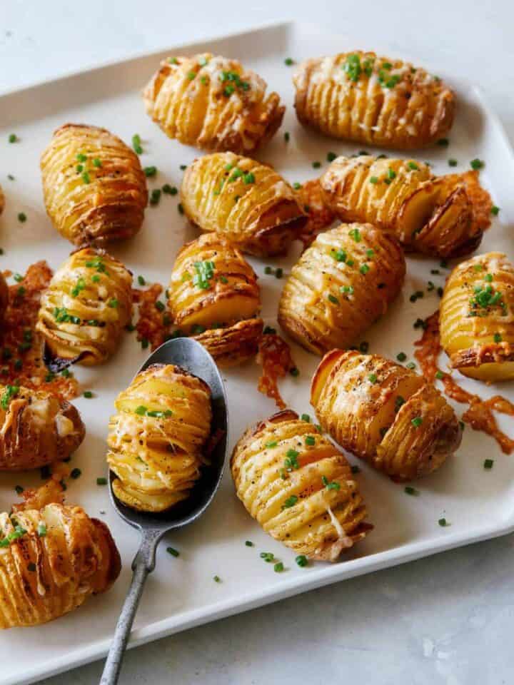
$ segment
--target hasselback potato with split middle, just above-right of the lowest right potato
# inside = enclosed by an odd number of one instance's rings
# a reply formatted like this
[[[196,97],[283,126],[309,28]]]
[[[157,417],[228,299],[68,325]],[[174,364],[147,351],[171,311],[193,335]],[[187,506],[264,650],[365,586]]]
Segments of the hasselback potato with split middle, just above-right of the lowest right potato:
[[[312,380],[311,404],[341,447],[394,480],[435,471],[460,445],[459,422],[440,392],[379,355],[328,352]]]

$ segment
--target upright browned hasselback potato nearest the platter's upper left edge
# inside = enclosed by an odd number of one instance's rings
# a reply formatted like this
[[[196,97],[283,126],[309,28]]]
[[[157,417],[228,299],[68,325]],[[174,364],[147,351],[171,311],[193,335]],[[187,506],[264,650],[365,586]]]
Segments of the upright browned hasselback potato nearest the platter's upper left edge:
[[[105,128],[58,128],[41,156],[41,175],[46,212],[74,245],[103,246],[141,228],[148,203],[141,163]]]

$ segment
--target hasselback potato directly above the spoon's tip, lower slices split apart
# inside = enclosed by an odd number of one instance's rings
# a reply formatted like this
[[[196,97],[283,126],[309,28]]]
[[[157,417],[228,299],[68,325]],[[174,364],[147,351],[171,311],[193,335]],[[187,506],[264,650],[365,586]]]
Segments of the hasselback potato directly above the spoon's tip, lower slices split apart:
[[[179,251],[168,288],[173,322],[206,347],[219,365],[257,353],[263,321],[257,276],[243,255],[216,233]]]

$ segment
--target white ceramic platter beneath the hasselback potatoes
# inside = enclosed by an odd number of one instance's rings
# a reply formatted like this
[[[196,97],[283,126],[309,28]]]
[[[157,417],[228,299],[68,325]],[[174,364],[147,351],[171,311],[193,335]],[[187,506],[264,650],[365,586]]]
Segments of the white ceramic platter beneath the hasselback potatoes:
[[[23,272],[35,260],[46,258],[56,268],[69,254],[70,245],[52,228],[41,199],[39,155],[52,131],[65,122],[105,126],[130,143],[134,133],[143,140],[144,166],[158,167],[156,179],[149,188],[164,183],[179,186],[181,164],[198,156],[193,148],[170,141],[144,112],[140,91],[156,70],[160,59],[173,54],[211,51],[241,59],[243,64],[261,73],[269,87],[278,91],[286,102],[286,117],[273,141],[258,157],[273,163],[289,181],[305,181],[318,174],[313,161],[326,168],[328,151],[353,153],[359,146],[348,146],[306,131],[296,123],[293,110],[291,67],[286,57],[296,60],[308,56],[331,54],[359,47],[377,49],[383,54],[400,56],[416,62],[416,55],[396,55],[393,45],[385,40],[379,46],[354,46],[343,43],[312,26],[282,24],[245,34],[171,47],[163,54],[138,57],[44,83],[0,97],[0,183],[6,194],[6,210],[0,218],[0,268]],[[437,56],[434,57],[437,59]],[[486,233],[480,250],[503,250],[512,256],[509,225],[514,224],[514,158],[508,141],[493,112],[473,87],[453,82],[440,64],[423,65],[440,74],[454,86],[459,106],[450,147],[420,153],[422,160],[433,163],[437,173],[450,171],[448,158],[459,161],[457,170],[469,168],[471,159],[485,160],[484,185],[493,195],[501,212]],[[448,66],[448,65],[447,65]],[[283,133],[289,131],[286,143]],[[19,136],[19,143],[9,144],[9,133]],[[370,148],[368,148],[370,149]],[[453,170],[452,170],[453,171]],[[9,181],[7,175],[16,180]],[[178,199],[163,196],[156,208],[146,210],[141,233],[112,252],[149,281],[166,284],[178,248],[191,240],[196,231],[187,225],[177,210]],[[16,216],[23,211],[26,223]],[[286,260],[281,260],[285,274],[298,257],[299,245]],[[276,308],[283,281],[264,275],[265,262],[251,260],[261,277],[263,315],[266,323],[276,325]],[[271,263],[269,260],[267,263]],[[413,321],[425,317],[438,307],[438,295],[426,292],[428,280],[443,285],[444,276],[431,276],[438,265],[432,260],[408,259],[408,275],[403,293],[383,320],[366,333],[370,350],[388,357],[404,351],[412,359],[413,341],[418,331]],[[443,270],[443,273],[447,273]],[[410,303],[409,295],[425,290],[425,297]],[[309,381],[318,359],[293,345],[293,354],[301,375],[281,384],[286,402],[298,412],[313,413],[308,403]],[[105,475],[104,462],[107,418],[114,397],[131,380],[145,359],[146,352],[136,342],[135,334],[126,335],[121,350],[104,367],[76,368],[81,389],[92,390],[94,399],[79,397],[79,407],[86,423],[84,444],[73,457],[82,476],[72,481],[67,500],[81,504],[111,528],[123,561],[121,577],[110,592],[90,599],[84,607],[54,623],[32,629],[5,631],[0,640],[0,683],[33,682],[71,666],[97,659],[106,653],[121,602],[129,584],[130,564],[138,544],[137,534],[119,519],[109,504],[106,487],[96,485]],[[226,378],[230,408],[230,441],[232,447],[248,422],[274,412],[271,400],[256,390],[258,367],[249,363],[223,374]],[[498,389],[471,381],[483,396]],[[513,399],[513,387],[503,385],[501,392]],[[458,413],[463,405],[456,406]],[[500,426],[513,430],[513,421],[500,417]],[[483,460],[491,457],[494,467],[483,469]],[[355,462],[354,457],[350,457]],[[203,519],[193,526],[168,537],[158,551],[156,571],[148,579],[132,635],[132,645],[156,639],[173,631],[212,621],[245,609],[258,607],[308,589],[384,567],[407,562],[426,554],[468,544],[509,532],[514,528],[514,457],[503,455],[496,443],[468,427],[458,454],[434,475],[420,480],[419,497],[409,497],[403,487],[361,465],[361,488],[368,504],[368,520],[376,524],[366,541],[358,544],[343,561],[311,564],[298,568],[294,554],[261,532],[246,514],[233,492],[228,471],[215,502]],[[37,474],[2,474],[1,506],[9,508],[15,499],[14,485],[37,484]],[[440,527],[438,519],[451,523]],[[245,545],[251,540],[253,547]],[[166,554],[171,544],[180,550],[177,559]],[[273,552],[286,570],[273,572],[273,564],[259,558],[259,552]],[[221,583],[213,582],[218,575]]]

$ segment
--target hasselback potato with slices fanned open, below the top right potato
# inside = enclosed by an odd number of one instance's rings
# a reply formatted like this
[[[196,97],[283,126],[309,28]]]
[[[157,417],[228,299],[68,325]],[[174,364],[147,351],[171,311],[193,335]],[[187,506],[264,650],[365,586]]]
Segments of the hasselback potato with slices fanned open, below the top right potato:
[[[448,258],[472,252],[482,240],[465,179],[436,178],[420,161],[338,157],[321,187],[338,218],[390,230],[408,251]]]

